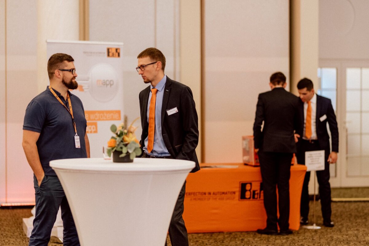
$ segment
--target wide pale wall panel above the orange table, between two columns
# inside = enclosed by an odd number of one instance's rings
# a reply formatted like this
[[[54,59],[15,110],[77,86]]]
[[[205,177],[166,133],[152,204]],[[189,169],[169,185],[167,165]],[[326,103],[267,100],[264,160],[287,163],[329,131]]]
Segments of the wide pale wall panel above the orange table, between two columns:
[[[205,0],[203,14],[204,159],[242,162],[258,94],[276,71],[289,82],[289,1]]]

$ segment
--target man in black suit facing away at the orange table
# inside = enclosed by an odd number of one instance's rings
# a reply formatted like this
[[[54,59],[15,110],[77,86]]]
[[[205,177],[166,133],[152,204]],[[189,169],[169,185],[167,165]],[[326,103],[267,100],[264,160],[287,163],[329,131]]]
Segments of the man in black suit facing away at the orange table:
[[[259,94],[254,123],[254,145],[258,151],[264,190],[264,207],[267,215],[266,228],[260,234],[292,234],[289,229],[290,214],[290,167],[296,152],[294,130],[298,126],[299,98],[287,92],[286,77],[277,72],[270,76],[271,91]],[[263,131],[261,131],[264,122]],[[277,218],[277,194],[279,218]]]

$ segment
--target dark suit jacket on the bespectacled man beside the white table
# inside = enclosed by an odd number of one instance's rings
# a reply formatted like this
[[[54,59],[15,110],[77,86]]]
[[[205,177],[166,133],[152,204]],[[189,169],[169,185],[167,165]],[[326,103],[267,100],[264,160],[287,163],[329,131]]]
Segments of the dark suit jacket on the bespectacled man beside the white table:
[[[148,136],[147,104],[150,86],[139,94],[141,110],[141,148]],[[167,110],[176,108],[177,113],[169,115]],[[161,109],[162,136],[169,154],[176,159],[194,161],[196,166],[191,172],[200,170],[195,148],[199,143],[198,118],[191,89],[177,81],[166,77],[163,104]]]

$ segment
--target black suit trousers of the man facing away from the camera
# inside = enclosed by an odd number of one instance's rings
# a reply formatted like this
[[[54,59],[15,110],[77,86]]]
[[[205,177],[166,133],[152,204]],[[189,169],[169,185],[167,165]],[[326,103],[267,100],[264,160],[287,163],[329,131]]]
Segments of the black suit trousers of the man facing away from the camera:
[[[264,190],[266,228],[277,231],[289,229],[290,216],[290,169],[292,153],[259,151],[260,171]],[[279,218],[277,218],[277,191]]]

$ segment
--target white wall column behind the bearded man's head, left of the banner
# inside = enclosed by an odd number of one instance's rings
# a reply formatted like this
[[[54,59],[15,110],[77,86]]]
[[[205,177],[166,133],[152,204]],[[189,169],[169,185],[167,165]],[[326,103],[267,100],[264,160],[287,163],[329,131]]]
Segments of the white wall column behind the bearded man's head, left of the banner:
[[[79,40],[79,1],[37,1],[37,89],[45,90],[47,75],[46,39]]]

